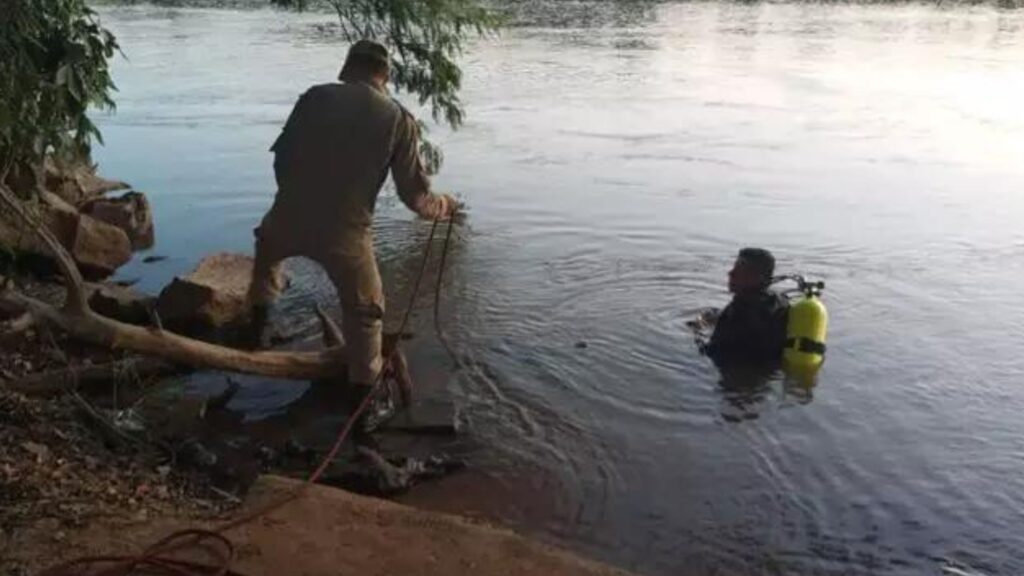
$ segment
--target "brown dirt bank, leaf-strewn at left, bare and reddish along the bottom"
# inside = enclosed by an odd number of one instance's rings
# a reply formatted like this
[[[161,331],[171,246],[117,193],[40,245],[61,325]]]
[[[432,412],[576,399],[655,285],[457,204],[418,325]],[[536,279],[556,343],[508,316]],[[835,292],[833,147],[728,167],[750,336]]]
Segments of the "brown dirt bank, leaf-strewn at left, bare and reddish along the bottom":
[[[262,476],[240,505],[159,449],[112,436],[87,411],[70,395],[31,399],[0,384],[0,575],[138,553],[176,530],[220,526],[301,486]],[[250,576],[623,574],[481,521],[326,486],[226,536],[233,569]]]

